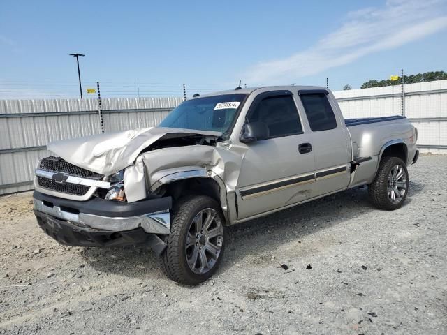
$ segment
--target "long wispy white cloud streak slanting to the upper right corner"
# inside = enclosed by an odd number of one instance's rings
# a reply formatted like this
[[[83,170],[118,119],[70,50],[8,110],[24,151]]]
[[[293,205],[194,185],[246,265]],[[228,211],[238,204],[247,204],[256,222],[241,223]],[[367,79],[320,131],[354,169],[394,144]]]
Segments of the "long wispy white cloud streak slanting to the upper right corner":
[[[249,68],[244,77],[250,84],[290,82],[349,64],[373,52],[400,47],[447,27],[447,15],[440,13],[441,3],[390,0],[383,8],[348,13],[342,27],[312,47],[284,59],[263,61]]]

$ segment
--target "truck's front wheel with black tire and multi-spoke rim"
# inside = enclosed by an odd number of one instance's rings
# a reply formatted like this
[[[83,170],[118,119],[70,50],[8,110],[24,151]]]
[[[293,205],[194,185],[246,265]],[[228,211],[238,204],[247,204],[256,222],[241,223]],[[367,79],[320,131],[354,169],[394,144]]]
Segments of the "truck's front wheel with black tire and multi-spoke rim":
[[[160,258],[166,275],[187,285],[210,278],[224,248],[225,220],[217,202],[202,195],[181,200],[170,229],[168,247]]]

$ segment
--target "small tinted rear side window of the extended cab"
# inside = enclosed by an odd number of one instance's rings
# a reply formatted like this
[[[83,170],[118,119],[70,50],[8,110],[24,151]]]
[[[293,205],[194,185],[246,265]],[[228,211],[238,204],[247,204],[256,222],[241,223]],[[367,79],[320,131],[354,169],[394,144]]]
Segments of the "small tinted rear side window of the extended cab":
[[[302,94],[300,98],[312,131],[337,128],[334,111],[325,94]]]

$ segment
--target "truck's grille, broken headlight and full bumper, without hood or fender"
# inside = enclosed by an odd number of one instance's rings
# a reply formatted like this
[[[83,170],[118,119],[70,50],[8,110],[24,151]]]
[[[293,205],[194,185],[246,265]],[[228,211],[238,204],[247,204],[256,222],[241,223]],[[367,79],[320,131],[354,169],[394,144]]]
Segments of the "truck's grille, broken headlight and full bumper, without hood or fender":
[[[129,203],[124,170],[104,177],[59,157],[43,158],[36,169],[34,213],[41,228],[70,246],[146,243],[156,253],[170,232],[170,197]]]

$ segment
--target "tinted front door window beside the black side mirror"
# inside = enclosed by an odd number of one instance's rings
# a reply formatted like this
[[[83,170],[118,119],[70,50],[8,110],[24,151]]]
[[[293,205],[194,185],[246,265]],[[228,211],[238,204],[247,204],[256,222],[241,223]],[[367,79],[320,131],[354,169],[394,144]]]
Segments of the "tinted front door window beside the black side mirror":
[[[269,96],[261,100],[248,117],[249,122],[263,122],[269,137],[302,133],[298,110],[292,96]]]

